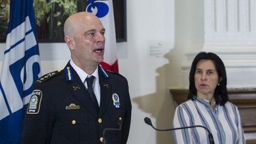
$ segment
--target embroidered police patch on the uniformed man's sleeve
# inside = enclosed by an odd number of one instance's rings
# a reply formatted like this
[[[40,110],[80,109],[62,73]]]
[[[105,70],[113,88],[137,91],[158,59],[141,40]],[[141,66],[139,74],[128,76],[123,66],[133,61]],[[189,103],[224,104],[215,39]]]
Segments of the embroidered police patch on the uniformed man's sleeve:
[[[42,91],[35,89],[27,106],[27,114],[38,114],[42,100]]]

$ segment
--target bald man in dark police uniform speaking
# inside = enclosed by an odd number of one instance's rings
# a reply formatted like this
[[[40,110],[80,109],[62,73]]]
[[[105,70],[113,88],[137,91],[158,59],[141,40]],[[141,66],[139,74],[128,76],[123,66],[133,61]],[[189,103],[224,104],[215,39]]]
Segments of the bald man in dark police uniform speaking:
[[[35,83],[22,143],[127,142],[132,109],[128,81],[99,65],[104,59],[104,32],[100,20],[88,12],[66,20],[64,39],[71,59],[63,70]],[[92,84],[87,78],[92,78]]]

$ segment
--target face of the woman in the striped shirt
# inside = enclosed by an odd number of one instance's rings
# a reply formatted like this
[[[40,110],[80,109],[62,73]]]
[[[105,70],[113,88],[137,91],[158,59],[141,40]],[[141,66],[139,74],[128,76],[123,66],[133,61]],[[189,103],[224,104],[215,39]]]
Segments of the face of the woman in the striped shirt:
[[[197,96],[205,100],[214,96],[214,91],[218,85],[218,72],[214,61],[201,59],[198,61],[195,70],[195,87]]]

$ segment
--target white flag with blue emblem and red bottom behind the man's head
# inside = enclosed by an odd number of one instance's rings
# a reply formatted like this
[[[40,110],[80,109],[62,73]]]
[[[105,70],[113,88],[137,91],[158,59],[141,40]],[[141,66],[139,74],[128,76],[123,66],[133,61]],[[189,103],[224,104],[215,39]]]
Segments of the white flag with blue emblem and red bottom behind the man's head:
[[[106,29],[105,32],[105,51],[104,61],[100,64],[106,70],[119,72],[117,62],[117,44],[115,38],[115,19],[112,0],[88,0],[87,12],[95,14],[100,18],[102,25]]]

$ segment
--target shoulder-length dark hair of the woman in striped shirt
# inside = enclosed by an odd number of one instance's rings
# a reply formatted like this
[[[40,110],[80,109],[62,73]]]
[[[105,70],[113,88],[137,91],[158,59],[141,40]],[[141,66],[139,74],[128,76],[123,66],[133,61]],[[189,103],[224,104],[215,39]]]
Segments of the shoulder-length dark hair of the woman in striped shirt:
[[[227,95],[227,74],[223,61],[220,57],[218,57],[218,55],[214,53],[201,52],[197,54],[197,56],[193,60],[189,73],[188,100],[195,100],[195,96],[197,96],[197,89],[195,87],[195,70],[198,61],[200,61],[201,59],[208,59],[214,61],[216,71],[218,72],[219,80],[221,78],[221,81],[219,82],[220,85],[217,85],[214,91],[214,98],[216,100],[216,104],[220,104],[221,106],[223,106],[229,100],[229,96]]]

